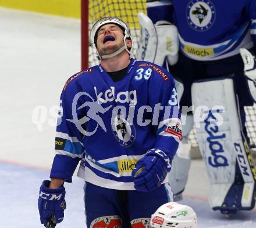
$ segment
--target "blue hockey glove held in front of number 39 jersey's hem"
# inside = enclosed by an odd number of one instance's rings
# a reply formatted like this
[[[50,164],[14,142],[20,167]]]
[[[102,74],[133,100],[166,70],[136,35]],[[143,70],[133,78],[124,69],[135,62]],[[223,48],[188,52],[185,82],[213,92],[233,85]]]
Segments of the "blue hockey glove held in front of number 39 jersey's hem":
[[[138,191],[152,191],[161,186],[171,165],[169,157],[158,149],[151,149],[138,160],[131,176]]]

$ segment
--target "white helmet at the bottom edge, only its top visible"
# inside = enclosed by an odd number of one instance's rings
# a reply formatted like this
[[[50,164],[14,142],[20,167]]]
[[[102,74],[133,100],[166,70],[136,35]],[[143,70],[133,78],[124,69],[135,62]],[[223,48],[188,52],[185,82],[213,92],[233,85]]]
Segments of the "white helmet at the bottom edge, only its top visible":
[[[177,202],[163,204],[151,216],[152,228],[197,228],[197,215],[194,210]]]

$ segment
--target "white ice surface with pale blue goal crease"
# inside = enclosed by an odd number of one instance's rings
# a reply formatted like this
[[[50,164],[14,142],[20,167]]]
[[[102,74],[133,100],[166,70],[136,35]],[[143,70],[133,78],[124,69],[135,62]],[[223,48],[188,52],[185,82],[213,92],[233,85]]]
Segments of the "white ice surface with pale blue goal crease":
[[[0,8],[0,228],[43,227],[37,198],[54,157],[51,113],[66,79],[78,71],[79,20]],[[86,227],[83,180],[65,187],[65,219],[56,227]],[[256,227],[255,209],[227,219],[209,207],[208,191],[204,164],[193,160],[182,203],[197,212],[198,227]]]

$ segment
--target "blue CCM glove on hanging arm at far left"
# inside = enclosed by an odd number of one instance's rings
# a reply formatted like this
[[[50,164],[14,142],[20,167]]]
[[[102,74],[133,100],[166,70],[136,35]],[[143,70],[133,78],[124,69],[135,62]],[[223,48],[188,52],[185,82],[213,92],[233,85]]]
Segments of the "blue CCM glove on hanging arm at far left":
[[[55,216],[56,223],[62,222],[64,210],[66,209],[65,187],[59,189],[49,189],[49,180],[44,180],[40,187],[38,198],[38,210],[40,220],[44,226],[47,225],[48,218]]]

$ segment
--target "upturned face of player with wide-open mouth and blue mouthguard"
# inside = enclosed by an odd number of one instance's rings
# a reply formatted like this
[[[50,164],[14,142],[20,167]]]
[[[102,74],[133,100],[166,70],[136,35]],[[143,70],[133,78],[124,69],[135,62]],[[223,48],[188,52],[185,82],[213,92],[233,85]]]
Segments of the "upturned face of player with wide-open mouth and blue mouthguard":
[[[98,31],[97,38],[99,55],[109,55],[122,48],[124,45],[123,37],[122,29],[116,24],[105,24],[105,26],[102,26]]]

